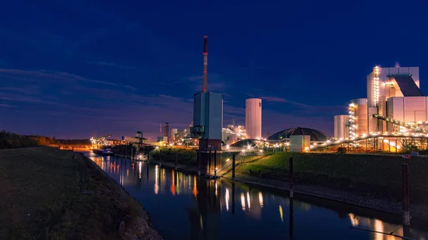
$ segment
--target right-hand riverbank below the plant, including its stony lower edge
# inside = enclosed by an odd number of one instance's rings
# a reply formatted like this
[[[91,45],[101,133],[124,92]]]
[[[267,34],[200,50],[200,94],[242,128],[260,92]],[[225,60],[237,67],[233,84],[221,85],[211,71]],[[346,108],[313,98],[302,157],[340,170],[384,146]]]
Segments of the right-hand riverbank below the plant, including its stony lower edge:
[[[246,184],[288,191],[288,159],[295,160],[295,193],[335,200],[359,207],[402,214],[399,156],[335,155],[276,152],[266,157],[246,157],[236,161],[235,180]],[[223,157],[225,158],[225,157]],[[230,160],[229,160],[230,161]],[[157,163],[158,160],[151,159]],[[170,160],[163,166],[174,167]],[[197,171],[193,165],[178,162],[178,170]],[[413,219],[428,221],[428,159],[410,162],[410,213]],[[231,179],[230,167],[220,171]]]

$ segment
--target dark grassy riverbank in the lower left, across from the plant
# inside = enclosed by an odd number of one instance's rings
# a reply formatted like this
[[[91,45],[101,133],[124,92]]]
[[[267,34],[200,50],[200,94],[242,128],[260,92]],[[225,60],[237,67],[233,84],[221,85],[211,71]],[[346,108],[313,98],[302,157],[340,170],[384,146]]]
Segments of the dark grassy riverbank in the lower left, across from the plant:
[[[0,150],[0,239],[161,239],[136,199],[91,160]]]

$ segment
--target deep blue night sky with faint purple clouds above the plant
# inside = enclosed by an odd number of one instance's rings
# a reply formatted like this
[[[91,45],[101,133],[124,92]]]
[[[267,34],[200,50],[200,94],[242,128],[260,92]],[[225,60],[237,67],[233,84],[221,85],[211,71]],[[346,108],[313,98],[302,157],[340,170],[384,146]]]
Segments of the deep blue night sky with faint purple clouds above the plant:
[[[374,65],[419,66],[428,93],[424,1],[7,1],[0,8],[0,129],[90,137],[161,122],[183,128],[202,87],[225,94],[224,124],[263,98],[263,135],[333,133],[366,97]]]

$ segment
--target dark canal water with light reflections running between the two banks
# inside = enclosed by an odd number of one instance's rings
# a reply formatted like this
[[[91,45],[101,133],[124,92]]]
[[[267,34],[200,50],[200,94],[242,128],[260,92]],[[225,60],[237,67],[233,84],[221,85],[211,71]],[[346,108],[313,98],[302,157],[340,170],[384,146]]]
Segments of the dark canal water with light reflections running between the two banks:
[[[85,155],[140,201],[165,240],[401,239],[428,240],[428,226],[400,228],[400,217],[325,199],[208,180],[120,157]],[[421,225],[421,224],[419,224]],[[352,229],[351,226],[367,229]]]

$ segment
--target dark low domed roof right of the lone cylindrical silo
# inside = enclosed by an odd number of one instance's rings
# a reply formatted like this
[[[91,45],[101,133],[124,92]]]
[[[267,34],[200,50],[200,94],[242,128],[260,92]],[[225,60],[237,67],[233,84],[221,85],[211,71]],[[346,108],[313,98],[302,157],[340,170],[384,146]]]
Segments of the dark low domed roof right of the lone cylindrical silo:
[[[314,130],[306,127],[295,127],[282,130],[275,133],[274,135],[267,137],[268,141],[284,141],[289,140],[290,135],[310,135],[311,142],[326,142],[327,140],[332,139],[329,135],[318,130]]]

